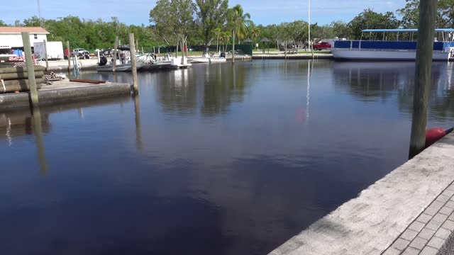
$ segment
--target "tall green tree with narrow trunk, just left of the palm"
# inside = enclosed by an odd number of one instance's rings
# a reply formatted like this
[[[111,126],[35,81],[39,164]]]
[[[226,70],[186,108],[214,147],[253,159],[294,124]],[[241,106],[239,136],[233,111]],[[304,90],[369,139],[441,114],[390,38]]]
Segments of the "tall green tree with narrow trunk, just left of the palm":
[[[208,46],[216,28],[226,23],[228,0],[196,0],[196,4],[204,45]]]

